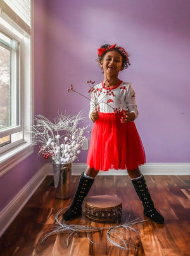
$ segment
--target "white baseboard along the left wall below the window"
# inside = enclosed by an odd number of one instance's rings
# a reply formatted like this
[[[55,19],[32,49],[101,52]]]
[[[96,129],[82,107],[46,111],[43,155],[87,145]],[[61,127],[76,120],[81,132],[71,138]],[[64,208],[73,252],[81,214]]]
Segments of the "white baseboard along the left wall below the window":
[[[23,189],[11,200],[11,202],[0,213],[0,237],[8,229],[9,225],[16,218],[23,206],[37,190],[42,181],[46,178],[46,165],[42,166],[34,177],[23,187]]]

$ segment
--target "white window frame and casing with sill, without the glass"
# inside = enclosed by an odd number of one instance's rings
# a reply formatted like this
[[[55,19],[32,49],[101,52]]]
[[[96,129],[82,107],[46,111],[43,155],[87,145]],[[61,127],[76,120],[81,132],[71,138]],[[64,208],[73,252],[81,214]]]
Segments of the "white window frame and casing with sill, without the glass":
[[[31,1],[31,24],[33,24],[33,1]],[[3,18],[3,17],[1,17]],[[9,19],[4,19],[8,24]],[[0,30],[9,37],[19,41],[20,43],[20,56],[19,56],[19,102],[20,112],[18,126],[14,128],[7,128],[1,131],[4,135],[7,135],[8,131],[20,131],[22,128],[23,137],[11,144],[6,144],[0,148],[0,177],[4,173],[11,170],[13,167],[22,162],[34,152],[34,146],[32,146],[32,133],[31,127],[34,122],[34,57],[33,57],[33,25],[31,25],[30,34],[28,34],[21,27],[18,29],[18,24],[15,24],[11,20],[11,25],[15,27],[18,32],[23,34],[20,38],[16,36],[8,27],[0,24]],[[2,135],[1,134],[1,135]]]

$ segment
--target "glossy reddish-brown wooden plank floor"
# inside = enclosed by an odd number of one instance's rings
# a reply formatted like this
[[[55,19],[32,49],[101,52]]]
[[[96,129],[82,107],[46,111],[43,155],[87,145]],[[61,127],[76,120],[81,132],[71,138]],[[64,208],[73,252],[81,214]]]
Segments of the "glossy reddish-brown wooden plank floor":
[[[142,234],[134,234],[134,237],[130,237],[127,231],[121,234],[125,241],[129,240],[129,250],[112,245],[106,239],[106,231],[90,236],[99,245],[90,243],[85,233],[71,236],[69,247],[66,246],[68,234],[65,233],[53,235],[41,243],[42,232],[54,224],[54,213],[71,203],[79,177],[72,177],[71,197],[65,200],[54,198],[52,179],[51,176],[46,177],[0,238],[0,255],[190,255],[190,176],[146,176],[149,191],[157,210],[165,217],[165,224],[155,224],[148,220],[134,226]],[[129,215],[130,220],[137,217],[140,217],[139,220],[146,219],[129,177],[96,177],[88,196],[98,194],[117,194],[122,199],[123,221]],[[109,225],[85,219],[85,212],[82,212],[82,217],[73,220],[72,224],[98,227]]]

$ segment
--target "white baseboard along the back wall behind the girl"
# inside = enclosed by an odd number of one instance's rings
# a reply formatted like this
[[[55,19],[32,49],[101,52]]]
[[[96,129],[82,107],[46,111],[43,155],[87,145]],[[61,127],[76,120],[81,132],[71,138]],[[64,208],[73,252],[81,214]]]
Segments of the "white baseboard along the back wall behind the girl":
[[[46,164],[47,172],[53,175],[51,163]],[[72,175],[80,175],[85,171],[87,165],[84,163],[74,163],[72,165]],[[144,175],[190,175],[190,163],[146,163],[139,169]],[[128,175],[126,170],[109,170],[99,172],[98,175]]]

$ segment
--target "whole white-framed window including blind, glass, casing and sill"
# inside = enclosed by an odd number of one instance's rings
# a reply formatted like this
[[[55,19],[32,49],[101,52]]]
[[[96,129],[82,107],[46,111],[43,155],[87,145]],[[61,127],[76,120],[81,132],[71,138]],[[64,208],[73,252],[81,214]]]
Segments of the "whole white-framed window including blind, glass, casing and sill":
[[[31,0],[0,0],[0,175],[33,152]]]

